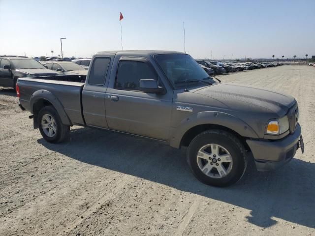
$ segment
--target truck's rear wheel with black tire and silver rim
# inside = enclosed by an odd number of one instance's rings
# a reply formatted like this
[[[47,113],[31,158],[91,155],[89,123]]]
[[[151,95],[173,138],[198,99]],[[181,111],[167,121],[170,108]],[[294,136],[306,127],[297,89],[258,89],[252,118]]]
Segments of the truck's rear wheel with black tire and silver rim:
[[[38,113],[37,122],[41,135],[50,143],[63,142],[70,134],[70,126],[63,124],[53,106],[43,107]]]

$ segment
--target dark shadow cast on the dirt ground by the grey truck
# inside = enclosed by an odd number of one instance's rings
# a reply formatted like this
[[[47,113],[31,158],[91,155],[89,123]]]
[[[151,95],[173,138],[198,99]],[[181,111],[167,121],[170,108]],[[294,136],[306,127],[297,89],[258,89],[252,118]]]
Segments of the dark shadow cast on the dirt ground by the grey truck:
[[[293,159],[283,168],[258,173],[250,165],[241,181],[226,188],[207,186],[191,174],[185,149],[110,131],[71,129],[71,141],[38,143],[90,165],[141,177],[209,199],[251,210],[248,222],[270,227],[278,219],[315,228],[315,164]],[[297,154],[298,157],[299,154]]]

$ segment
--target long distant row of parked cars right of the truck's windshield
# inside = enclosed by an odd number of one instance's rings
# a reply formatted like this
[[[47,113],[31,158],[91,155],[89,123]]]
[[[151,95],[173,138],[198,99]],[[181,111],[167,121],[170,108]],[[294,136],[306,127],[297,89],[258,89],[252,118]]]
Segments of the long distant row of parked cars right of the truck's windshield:
[[[283,65],[281,62],[239,62],[239,61],[208,61],[196,60],[198,64],[209,74],[223,74],[230,72],[237,72],[243,70],[252,70],[258,68],[274,67]]]

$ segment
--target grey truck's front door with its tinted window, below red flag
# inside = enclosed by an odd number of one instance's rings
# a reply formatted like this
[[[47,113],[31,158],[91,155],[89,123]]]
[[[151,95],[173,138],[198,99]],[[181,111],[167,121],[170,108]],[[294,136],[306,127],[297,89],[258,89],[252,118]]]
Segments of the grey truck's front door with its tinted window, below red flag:
[[[116,56],[114,65],[105,99],[108,127],[169,140],[173,90],[166,88],[165,94],[139,90],[141,79],[155,79],[160,86],[165,87],[162,75],[148,59]]]

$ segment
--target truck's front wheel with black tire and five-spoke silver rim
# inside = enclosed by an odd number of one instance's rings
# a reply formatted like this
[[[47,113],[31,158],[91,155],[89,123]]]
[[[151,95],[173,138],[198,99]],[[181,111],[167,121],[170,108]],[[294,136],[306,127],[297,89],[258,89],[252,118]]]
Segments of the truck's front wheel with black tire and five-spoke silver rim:
[[[189,144],[187,161],[194,176],[213,186],[228,186],[245,173],[245,148],[233,134],[223,130],[207,130]]]

